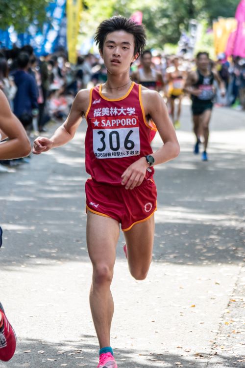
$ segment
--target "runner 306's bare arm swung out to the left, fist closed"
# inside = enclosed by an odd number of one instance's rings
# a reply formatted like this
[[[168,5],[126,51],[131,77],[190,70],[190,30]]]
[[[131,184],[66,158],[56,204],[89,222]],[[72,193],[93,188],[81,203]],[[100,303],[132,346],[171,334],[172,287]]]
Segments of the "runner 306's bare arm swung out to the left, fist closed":
[[[73,101],[71,111],[64,122],[49,139],[46,137],[38,137],[33,144],[32,152],[39,155],[47,152],[51,148],[59,147],[71,141],[82,120],[82,116],[86,113],[89,106],[90,91],[88,89],[80,90]]]

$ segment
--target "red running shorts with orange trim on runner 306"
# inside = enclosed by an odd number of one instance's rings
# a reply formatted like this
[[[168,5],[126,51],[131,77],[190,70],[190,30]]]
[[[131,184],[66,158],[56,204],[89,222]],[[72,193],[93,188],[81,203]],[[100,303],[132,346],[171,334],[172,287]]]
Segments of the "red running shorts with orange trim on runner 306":
[[[156,210],[156,185],[153,179],[144,180],[139,187],[102,184],[88,179],[85,184],[86,211],[111,217],[128,231],[135,224],[146,221]]]

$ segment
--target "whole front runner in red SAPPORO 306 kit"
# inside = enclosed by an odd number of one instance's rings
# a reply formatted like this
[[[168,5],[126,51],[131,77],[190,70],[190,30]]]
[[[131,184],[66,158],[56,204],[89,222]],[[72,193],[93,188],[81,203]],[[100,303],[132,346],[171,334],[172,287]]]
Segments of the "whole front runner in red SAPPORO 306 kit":
[[[48,139],[38,137],[33,153],[69,142],[87,120],[85,184],[87,246],[93,265],[90,306],[99,341],[98,368],[117,368],[110,346],[114,311],[110,284],[120,223],[131,275],[143,280],[151,263],[156,187],[153,165],[176,157],[179,144],[162,97],[130,80],[130,65],[146,43],[142,25],[115,16],[103,21],[95,40],[107,69],[107,81],[80,90],[65,123]],[[156,123],[164,142],[152,153],[146,116]],[[151,167],[151,169],[149,169]]]

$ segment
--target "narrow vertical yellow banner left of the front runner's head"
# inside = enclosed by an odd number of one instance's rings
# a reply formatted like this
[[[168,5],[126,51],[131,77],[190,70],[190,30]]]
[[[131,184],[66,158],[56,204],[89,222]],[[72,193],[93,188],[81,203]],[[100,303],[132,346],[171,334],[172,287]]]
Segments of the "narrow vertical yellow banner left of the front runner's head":
[[[82,0],[67,0],[67,48],[69,61],[73,64],[75,64],[77,60],[76,44],[81,10]]]

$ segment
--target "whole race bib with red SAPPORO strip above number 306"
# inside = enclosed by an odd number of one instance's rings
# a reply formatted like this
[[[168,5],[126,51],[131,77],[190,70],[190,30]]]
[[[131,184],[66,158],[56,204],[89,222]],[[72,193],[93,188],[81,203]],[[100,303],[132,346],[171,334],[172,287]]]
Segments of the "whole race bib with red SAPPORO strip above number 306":
[[[93,149],[98,159],[121,158],[140,154],[137,116],[98,116],[91,119]]]

